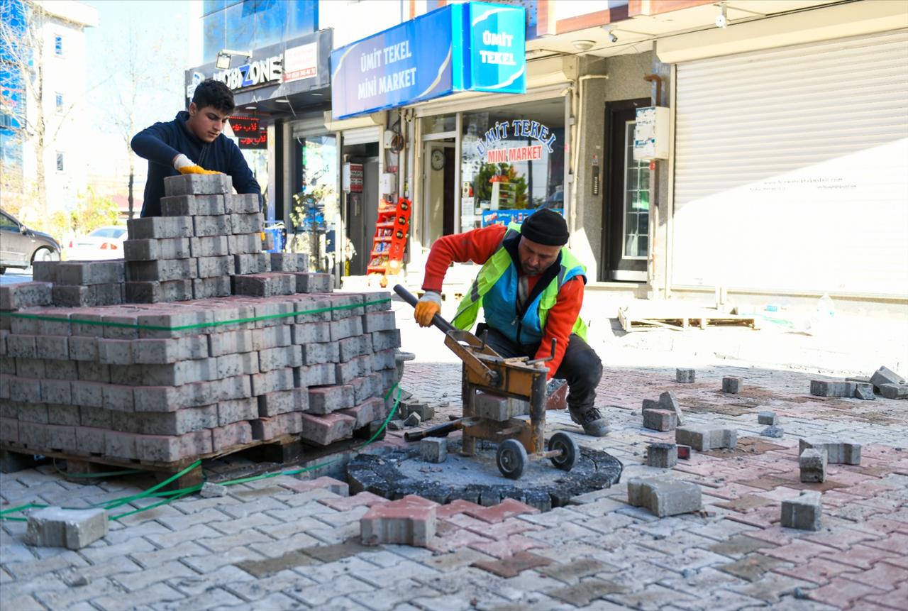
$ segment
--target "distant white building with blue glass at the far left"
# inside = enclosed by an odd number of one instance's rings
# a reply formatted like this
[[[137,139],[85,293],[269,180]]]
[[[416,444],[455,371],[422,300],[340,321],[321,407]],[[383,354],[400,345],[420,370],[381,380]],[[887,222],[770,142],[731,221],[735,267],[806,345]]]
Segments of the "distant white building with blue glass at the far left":
[[[79,2],[10,0],[0,35],[0,163],[5,199],[24,222],[69,210],[88,186],[84,30],[97,11]],[[35,194],[44,202],[35,206]],[[40,198],[39,198],[40,202]]]

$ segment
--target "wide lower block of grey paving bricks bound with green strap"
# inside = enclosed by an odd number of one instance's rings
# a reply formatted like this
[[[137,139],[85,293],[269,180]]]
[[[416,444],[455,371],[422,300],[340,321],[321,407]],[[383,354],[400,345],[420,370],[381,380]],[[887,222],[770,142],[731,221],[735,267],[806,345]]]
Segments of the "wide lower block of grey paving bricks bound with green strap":
[[[49,301],[29,284],[0,288],[4,313],[34,315],[0,316],[0,441],[16,448],[174,462],[286,434],[327,445],[390,409],[388,292],[23,310]]]

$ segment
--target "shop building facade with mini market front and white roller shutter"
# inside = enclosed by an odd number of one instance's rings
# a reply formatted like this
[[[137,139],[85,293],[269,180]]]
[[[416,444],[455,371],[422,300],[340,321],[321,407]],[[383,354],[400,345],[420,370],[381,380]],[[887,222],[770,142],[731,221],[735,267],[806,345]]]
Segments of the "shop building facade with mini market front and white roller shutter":
[[[227,25],[247,3],[205,4],[225,25],[200,65],[219,45],[258,44],[268,19],[252,19],[249,44]],[[418,28],[448,4],[306,3],[315,15],[286,19],[311,32],[285,31],[278,51],[317,39],[320,76],[235,89],[266,132],[269,215],[291,227],[293,195],[315,193],[339,275],[365,273],[380,202],[403,196],[414,286],[440,235],[547,207],[568,220],[593,289],[908,301],[893,264],[908,252],[908,3],[501,2],[525,9],[525,93],[337,112],[351,84],[334,82],[324,49]],[[249,50],[248,64],[274,56]],[[294,55],[282,74],[311,63]],[[237,67],[221,77],[236,82]]]

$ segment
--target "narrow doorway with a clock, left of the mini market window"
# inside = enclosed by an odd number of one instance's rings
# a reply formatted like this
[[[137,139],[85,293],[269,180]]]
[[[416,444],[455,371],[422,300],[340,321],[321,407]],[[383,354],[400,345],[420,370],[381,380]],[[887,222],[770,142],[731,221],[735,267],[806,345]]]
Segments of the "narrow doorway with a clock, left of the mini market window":
[[[432,244],[454,232],[454,143],[426,143],[422,215],[424,243]]]

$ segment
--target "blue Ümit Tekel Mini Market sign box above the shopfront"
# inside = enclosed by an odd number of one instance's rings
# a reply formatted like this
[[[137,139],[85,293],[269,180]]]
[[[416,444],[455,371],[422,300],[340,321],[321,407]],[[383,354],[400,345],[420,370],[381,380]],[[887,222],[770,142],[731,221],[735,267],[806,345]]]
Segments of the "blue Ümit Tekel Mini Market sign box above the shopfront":
[[[526,93],[523,7],[448,5],[331,52],[335,118],[460,91]]]

